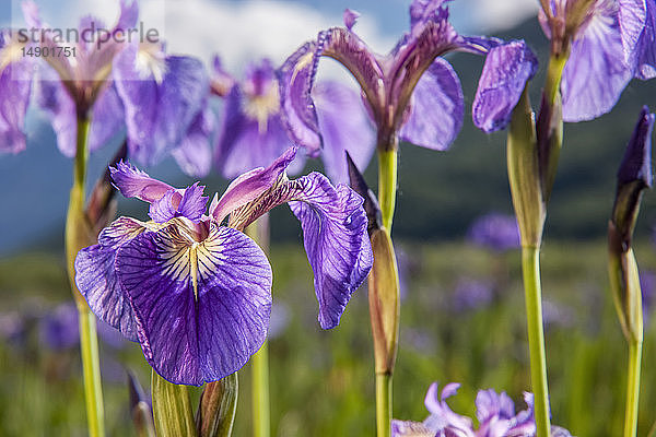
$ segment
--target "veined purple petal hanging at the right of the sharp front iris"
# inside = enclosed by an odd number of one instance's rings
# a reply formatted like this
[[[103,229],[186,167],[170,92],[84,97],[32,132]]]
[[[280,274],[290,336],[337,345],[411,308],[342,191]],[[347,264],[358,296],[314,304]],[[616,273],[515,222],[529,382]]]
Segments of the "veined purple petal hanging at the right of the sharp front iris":
[[[289,184],[296,191],[290,208],[303,228],[319,323],[324,329],[335,328],[373,263],[363,199],[347,186],[333,188],[319,173]]]

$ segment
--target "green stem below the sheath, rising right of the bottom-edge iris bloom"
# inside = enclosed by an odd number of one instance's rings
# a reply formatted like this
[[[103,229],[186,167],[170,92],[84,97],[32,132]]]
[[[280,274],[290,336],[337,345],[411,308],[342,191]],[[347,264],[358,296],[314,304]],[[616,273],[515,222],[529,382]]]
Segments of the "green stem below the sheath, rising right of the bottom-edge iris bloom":
[[[538,437],[549,437],[549,388],[542,324],[542,292],[540,286],[540,252],[537,247],[522,248],[522,271],[526,298],[526,322],[530,354],[530,379],[535,397],[535,418]]]

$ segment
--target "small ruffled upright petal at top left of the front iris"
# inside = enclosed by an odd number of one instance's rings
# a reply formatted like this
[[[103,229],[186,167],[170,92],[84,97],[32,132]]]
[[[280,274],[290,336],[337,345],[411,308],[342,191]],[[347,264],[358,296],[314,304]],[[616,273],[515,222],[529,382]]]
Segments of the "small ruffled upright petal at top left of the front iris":
[[[119,162],[115,167],[109,167],[114,185],[126,198],[137,198],[144,202],[153,203],[169,190],[175,190],[168,184],[151,178],[145,172],[133,165]]]

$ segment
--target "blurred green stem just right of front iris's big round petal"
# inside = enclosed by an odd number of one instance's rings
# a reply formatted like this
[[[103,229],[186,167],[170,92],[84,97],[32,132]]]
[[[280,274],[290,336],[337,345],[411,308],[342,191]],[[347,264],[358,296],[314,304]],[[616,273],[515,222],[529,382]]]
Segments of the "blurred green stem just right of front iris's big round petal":
[[[268,252],[268,217],[258,218],[246,228],[248,235],[265,252]],[[269,437],[271,435],[271,408],[269,403],[269,345],[268,341],[250,357],[250,371],[253,377],[253,435],[255,437]]]

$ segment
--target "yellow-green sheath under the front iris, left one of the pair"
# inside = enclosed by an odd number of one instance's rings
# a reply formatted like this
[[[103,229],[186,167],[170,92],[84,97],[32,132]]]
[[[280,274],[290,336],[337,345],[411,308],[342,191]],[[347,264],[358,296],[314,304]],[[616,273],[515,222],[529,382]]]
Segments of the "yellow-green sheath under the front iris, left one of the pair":
[[[189,388],[171,383],[152,370],[153,418],[157,437],[197,437]]]

